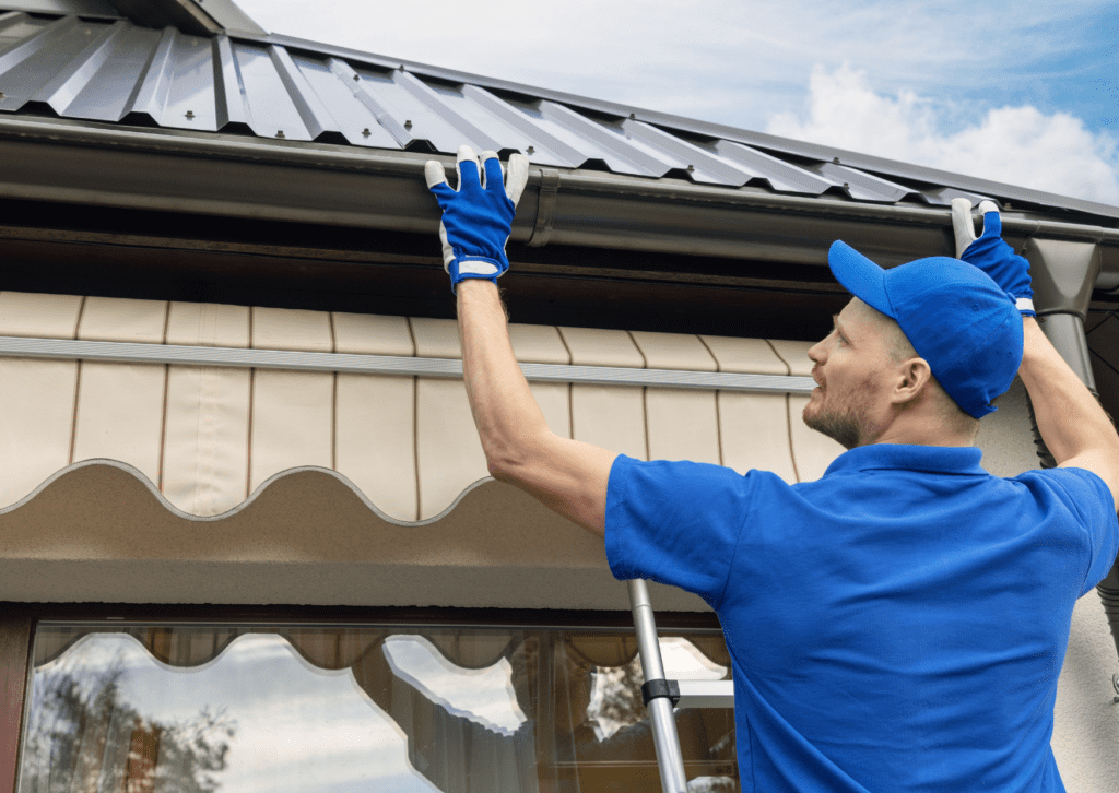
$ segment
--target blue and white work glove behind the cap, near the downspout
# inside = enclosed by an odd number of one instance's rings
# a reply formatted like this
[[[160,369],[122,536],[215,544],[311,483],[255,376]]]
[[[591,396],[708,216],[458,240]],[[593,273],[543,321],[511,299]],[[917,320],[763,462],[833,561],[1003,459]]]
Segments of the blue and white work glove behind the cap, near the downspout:
[[[1003,239],[1003,216],[994,201],[981,201],[982,234],[977,238],[971,221],[971,201],[952,199],[952,229],[956,232],[956,257],[987,273],[999,287],[1014,298],[1023,317],[1036,317],[1029,262],[1014,253]]]

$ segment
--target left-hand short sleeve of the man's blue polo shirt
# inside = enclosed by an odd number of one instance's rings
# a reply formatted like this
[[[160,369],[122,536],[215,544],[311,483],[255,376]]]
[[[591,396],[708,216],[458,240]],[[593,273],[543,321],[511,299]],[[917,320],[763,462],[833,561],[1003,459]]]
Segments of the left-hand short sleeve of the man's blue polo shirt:
[[[752,483],[721,465],[619,455],[606,487],[610,572],[678,586],[717,608]]]

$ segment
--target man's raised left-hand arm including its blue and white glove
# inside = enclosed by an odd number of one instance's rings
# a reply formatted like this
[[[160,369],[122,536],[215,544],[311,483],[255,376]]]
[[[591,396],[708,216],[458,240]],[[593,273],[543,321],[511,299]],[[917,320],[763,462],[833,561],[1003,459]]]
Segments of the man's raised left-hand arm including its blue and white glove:
[[[427,186],[443,209],[443,266],[458,300],[467,397],[490,474],[600,537],[613,452],[553,433],[513,355],[497,279],[509,268],[505,244],[527,179],[527,160],[509,159],[508,180],[493,152],[481,162],[459,150],[459,188],[429,162]]]

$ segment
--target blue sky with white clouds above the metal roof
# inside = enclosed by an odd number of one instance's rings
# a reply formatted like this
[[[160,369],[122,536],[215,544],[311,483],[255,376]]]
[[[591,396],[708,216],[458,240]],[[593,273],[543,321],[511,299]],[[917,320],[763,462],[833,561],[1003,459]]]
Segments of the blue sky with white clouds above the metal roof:
[[[1119,205],[1119,4],[237,0],[270,32]]]

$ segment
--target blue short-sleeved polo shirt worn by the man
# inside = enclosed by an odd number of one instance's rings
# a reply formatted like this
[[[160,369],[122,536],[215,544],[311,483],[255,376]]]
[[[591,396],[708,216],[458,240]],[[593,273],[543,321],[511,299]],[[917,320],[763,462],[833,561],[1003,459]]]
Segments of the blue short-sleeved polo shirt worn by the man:
[[[1119,525],[1083,469],[876,444],[816,482],[619,456],[618,578],[700,595],[734,673],[743,791],[1063,791],[1050,737],[1076,598]]]

